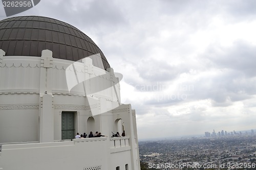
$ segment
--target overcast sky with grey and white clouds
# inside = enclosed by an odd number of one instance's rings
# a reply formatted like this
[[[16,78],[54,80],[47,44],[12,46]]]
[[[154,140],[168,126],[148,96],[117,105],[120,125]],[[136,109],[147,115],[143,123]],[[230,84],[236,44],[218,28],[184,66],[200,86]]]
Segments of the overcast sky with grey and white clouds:
[[[256,1],[41,0],[123,74],[139,139],[256,129]],[[0,19],[6,18],[3,6]]]

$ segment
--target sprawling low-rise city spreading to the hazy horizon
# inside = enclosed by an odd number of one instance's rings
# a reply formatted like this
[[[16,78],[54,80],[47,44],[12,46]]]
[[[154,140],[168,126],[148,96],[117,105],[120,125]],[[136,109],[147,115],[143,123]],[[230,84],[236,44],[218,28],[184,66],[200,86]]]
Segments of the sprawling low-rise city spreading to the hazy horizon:
[[[255,139],[255,135],[247,135],[141,141],[140,159],[148,167],[158,169],[229,169],[231,166],[230,169],[238,166],[253,169],[256,167]]]

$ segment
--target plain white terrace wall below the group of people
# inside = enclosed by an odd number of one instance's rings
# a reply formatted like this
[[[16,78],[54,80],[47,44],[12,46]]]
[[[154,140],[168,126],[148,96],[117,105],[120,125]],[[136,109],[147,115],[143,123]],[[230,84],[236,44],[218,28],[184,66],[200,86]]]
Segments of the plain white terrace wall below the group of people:
[[[3,145],[0,167],[5,169],[83,169],[101,165],[109,169],[106,137],[70,142]]]

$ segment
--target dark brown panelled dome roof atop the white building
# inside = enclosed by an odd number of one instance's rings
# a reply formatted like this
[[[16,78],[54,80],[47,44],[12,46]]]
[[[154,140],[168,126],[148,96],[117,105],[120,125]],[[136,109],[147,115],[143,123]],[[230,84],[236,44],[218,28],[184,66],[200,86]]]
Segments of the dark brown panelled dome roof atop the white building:
[[[1,20],[0,49],[6,52],[5,56],[40,57],[46,49],[58,59],[78,61],[91,56],[95,66],[110,68],[91,38],[66,22],[48,17],[19,16]]]

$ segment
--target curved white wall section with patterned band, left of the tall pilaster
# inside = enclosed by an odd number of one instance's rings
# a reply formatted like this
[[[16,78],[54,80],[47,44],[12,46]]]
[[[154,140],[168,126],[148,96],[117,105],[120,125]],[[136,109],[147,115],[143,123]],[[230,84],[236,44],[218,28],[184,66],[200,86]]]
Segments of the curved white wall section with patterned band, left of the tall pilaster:
[[[38,100],[38,94],[0,95],[0,143],[39,140]]]

